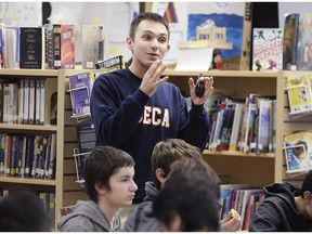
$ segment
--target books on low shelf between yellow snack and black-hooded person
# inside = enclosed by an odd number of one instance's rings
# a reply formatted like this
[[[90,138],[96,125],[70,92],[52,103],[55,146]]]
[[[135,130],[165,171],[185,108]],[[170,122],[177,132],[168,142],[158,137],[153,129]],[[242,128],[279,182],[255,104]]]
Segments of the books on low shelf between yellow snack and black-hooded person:
[[[226,217],[233,208],[242,218],[242,230],[248,230],[250,218],[263,198],[263,188],[251,187],[248,184],[221,184],[220,219]]]

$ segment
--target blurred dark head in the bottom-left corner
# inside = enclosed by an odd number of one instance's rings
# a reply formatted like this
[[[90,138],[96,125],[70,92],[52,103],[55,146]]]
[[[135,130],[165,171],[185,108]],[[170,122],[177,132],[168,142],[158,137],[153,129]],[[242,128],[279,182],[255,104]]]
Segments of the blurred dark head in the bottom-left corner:
[[[0,199],[0,232],[48,232],[40,198],[27,191],[10,191]]]

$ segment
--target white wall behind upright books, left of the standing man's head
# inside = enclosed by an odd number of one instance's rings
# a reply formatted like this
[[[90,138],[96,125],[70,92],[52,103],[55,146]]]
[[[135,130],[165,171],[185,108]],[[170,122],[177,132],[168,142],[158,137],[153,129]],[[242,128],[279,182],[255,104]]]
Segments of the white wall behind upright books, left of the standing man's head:
[[[119,54],[126,61],[131,57],[126,38],[139,2],[51,2],[51,6],[50,23],[75,25],[76,62],[81,61],[81,25],[94,23],[106,26],[105,58]]]

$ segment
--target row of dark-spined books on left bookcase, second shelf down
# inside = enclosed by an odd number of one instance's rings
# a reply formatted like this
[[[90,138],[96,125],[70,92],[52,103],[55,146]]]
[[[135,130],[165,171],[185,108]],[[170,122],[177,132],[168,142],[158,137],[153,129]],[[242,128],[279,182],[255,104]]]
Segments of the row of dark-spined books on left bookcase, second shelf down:
[[[55,178],[56,134],[0,133],[0,174],[20,178]]]

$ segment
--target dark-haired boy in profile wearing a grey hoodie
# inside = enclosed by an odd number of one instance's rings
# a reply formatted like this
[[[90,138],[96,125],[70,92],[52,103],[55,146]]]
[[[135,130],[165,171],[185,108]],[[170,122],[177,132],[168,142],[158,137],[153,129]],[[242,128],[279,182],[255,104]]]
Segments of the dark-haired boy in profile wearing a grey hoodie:
[[[134,160],[112,146],[98,146],[84,159],[83,177],[90,200],[78,200],[73,212],[58,222],[62,232],[109,232],[120,225],[116,212],[130,206],[138,190],[133,181]],[[118,216],[117,216],[118,217]],[[114,224],[116,226],[116,223]],[[119,226],[120,229],[120,226]]]

